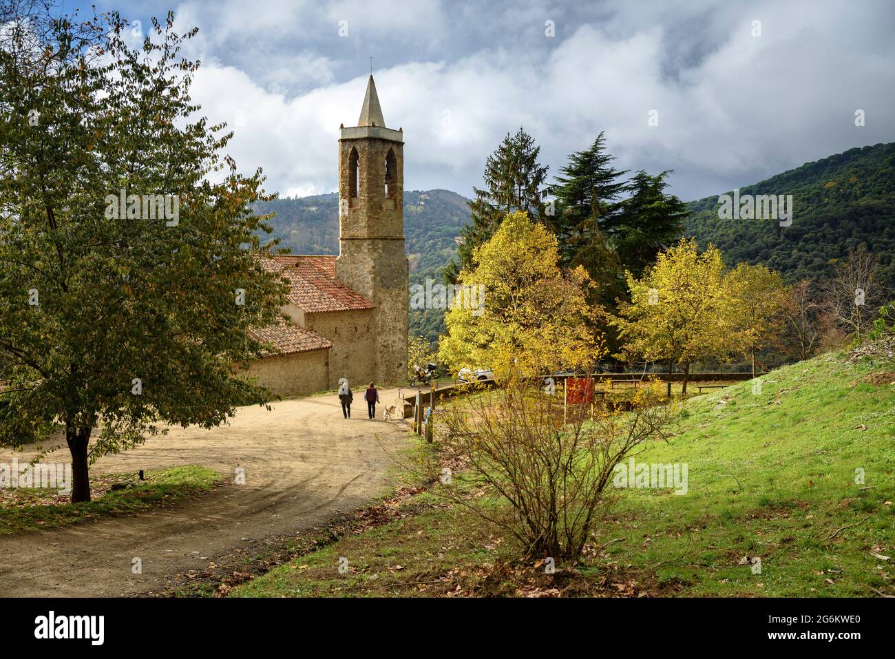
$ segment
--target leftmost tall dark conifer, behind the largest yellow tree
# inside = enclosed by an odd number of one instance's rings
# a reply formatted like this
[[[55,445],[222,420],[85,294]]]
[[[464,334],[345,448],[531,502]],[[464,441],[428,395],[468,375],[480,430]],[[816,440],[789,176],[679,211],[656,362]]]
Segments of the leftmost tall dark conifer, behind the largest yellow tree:
[[[472,224],[460,232],[462,242],[457,248],[456,261],[444,271],[447,283],[456,283],[460,270],[473,261],[473,249],[490,239],[500,227],[507,213],[521,210],[530,218],[545,218],[544,181],[547,167],[538,163],[541,147],[534,138],[519,128],[507,136],[485,162],[484,188],[473,188],[475,199],[469,202]]]

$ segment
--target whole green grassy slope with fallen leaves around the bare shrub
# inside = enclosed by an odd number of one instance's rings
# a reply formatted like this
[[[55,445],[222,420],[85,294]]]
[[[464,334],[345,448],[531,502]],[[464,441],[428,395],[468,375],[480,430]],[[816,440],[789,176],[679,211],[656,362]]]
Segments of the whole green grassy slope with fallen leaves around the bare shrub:
[[[687,493],[618,490],[595,549],[535,585],[497,529],[424,492],[413,514],[231,595],[895,595],[895,374],[866,381],[895,367],[843,360],[771,372],[760,393],[747,381],[687,401],[674,436],[635,456],[686,463]],[[761,573],[746,557],[761,559]],[[569,573],[579,587],[564,586]]]

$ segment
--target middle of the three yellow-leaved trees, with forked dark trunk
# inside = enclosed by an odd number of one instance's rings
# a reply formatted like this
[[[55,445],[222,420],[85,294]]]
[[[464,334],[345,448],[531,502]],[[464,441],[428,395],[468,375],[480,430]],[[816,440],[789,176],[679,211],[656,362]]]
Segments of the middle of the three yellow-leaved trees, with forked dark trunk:
[[[622,303],[613,324],[618,327],[621,359],[668,365],[668,395],[674,364],[684,367],[697,359],[726,355],[729,336],[729,295],[724,262],[712,244],[699,253],[695,240],[682,238],[660,252],[642,278],[626,273],[631,302]]]

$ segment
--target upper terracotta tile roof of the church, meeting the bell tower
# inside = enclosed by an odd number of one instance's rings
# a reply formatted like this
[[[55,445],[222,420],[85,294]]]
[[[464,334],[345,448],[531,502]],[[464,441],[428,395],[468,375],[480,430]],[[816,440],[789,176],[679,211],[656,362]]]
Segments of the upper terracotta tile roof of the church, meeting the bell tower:
[[[289,302],[306,312],[373,308],[370,300],[336,278],[335,256],[272,256],[264,259],[264,267],[288,279]]]

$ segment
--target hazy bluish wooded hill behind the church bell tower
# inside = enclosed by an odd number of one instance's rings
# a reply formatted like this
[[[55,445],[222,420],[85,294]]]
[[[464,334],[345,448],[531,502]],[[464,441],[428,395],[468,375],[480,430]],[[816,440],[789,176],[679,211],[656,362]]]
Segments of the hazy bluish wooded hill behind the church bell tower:
[[[294,254],[338,253],[338,195],[285,198],[259,204],[260,213],[276,212],[271,225],[280,245]],[[405,252],[410,283],[441,281],[440,270],[456,253],[455,238],[469,222],[465,197],[447,190],[404,193]],[[437,309],[410,312],[410,332],[433,343],[443,333],[444,313]]]

